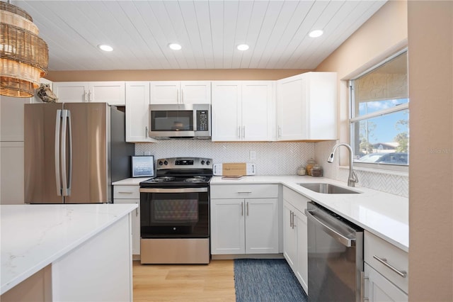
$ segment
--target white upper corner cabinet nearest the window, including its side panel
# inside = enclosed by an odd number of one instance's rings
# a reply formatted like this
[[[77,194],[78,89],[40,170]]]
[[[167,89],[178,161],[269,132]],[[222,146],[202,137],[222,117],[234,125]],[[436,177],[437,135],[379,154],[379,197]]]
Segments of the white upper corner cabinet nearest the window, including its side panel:
[[[336,72],[277,81],[277,140],[336,140]]]

